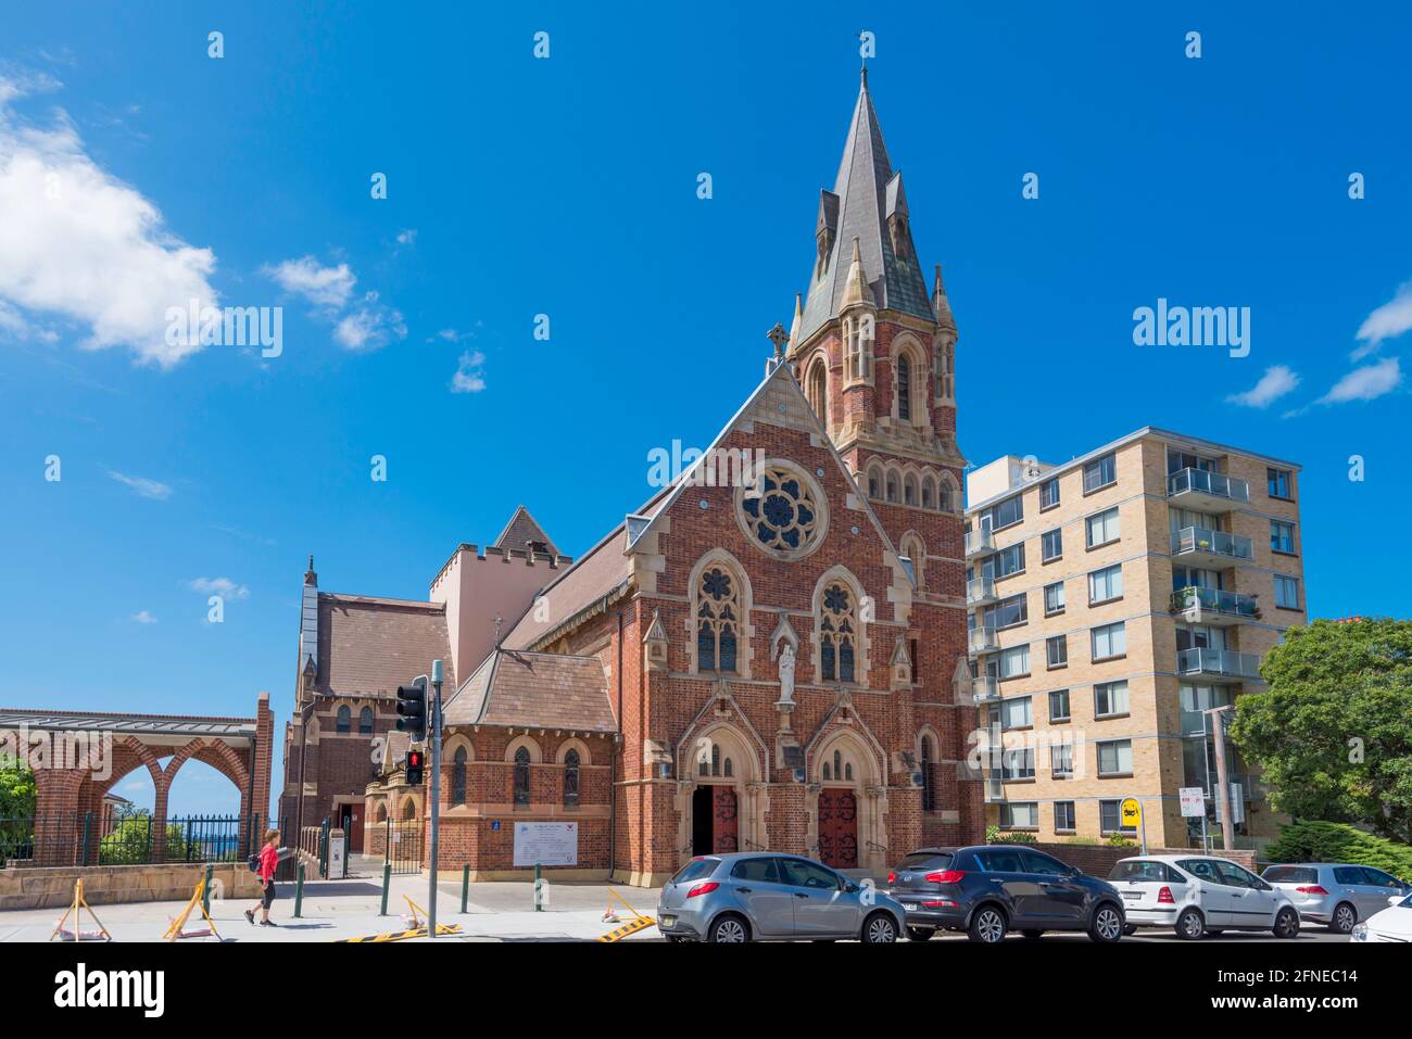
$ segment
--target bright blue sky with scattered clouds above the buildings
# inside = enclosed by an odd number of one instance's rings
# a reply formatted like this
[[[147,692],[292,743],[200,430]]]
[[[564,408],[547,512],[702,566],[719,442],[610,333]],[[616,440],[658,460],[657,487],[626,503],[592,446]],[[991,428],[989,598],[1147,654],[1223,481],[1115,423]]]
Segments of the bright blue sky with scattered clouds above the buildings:
[[[325,589],[422,597],[521,501],[592,545],[788,325],[861,30],[946,265],[967,456],[1159,425],[1289,457],[1312,614],[1405,614],[1412,16],[1103,7],[13,6],[0,702],[249,714],[268,689],[282,724],[306,553]],[[188,296],[282,306],[282,353],[169,346]],[[1250,356],[1134,346],[1158,298],[1251,308]]]

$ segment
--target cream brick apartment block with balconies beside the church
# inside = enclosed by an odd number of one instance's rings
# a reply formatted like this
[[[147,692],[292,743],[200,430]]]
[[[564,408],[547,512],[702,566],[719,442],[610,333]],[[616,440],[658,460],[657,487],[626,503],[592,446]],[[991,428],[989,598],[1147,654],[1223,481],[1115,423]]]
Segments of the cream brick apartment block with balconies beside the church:
[[[1179,789],[1216,812],[1214,717],[1262,687],[1305,623],[1299,466],[1139,429],[1065,464],[1004,456],[967,477],[970,662],[986,815],[1038,840],[1107,837],[1124,798],[1151,846],[1189,847]],[[1274,837],[1227,738],[1236,844]]]

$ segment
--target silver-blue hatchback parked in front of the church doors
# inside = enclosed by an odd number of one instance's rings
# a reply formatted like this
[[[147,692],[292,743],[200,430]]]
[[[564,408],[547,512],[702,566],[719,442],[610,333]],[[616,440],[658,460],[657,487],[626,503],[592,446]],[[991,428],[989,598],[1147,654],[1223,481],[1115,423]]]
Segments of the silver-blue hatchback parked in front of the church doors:
[[[700,855],[662,885],[657,926],[668,942],[860,939],[897,942],[902,903],[799,855]]]

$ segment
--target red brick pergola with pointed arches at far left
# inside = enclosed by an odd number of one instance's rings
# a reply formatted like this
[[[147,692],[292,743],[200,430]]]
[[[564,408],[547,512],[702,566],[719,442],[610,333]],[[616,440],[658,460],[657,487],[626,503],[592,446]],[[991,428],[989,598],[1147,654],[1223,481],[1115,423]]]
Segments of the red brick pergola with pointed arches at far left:
[[[123,778],[145,768],[152,778],[152,819],[167,819],[171,785],[188,761],[210,765],[240,792],[239,840],[270,812],[270,758],[274,716],[260,693],[256,716],[107,714],[0,709],[0,731],[23,733],[31,744],[95,747],[75,761],[58,750],[31,762],[35,779],[34,865],[73,865],[80,860],[83,820],[102,819],[103,798]],[[165,759],[165,765],[162,761]],[[257,819],[258,816],[258,819]],[[164,861],[167,827],[152,834],[152,861]]]

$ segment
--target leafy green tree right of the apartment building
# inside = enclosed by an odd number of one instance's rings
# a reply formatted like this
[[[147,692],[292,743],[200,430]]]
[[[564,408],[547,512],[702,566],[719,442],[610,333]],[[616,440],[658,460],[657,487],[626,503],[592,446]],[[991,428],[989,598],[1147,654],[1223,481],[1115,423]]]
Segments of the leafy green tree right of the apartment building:
[[[1412,621],[1292,628],[1260,673],[1269,686],[1237,699],[1231,740],[1271,805],[1412,839]]]

